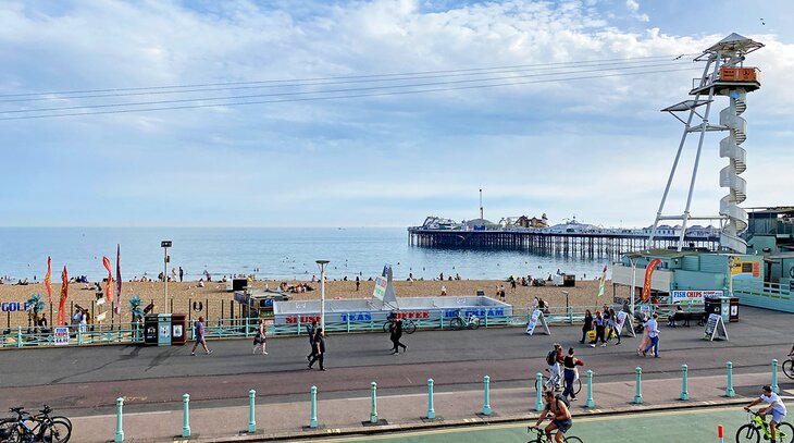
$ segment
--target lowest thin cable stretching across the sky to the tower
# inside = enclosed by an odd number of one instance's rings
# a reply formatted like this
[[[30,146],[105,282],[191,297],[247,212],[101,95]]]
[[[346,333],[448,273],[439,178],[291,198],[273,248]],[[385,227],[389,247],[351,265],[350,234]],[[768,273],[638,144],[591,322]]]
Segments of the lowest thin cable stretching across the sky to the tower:
[[[497,84],[491,84],[491,85],[467,85],[467,86],[451,86],[451,87],[445,87],[445,88],[430,88],[430,89],[418,89],[418,90],[379,91],[379,93],[370,93],[370,94],[355,94],[355,95],[343,95],[343,96],[333,96],[333,97],[305,97],[305,98],[287,98],[287,99],[283,99],[283,100],[241,101],[241,102],[222,103],[222,104],[185,104],[185,106],[141,108],[141,109],[115,109],[115,110],[107,110],[107,111],[70,112],[70,113],[60,113],[60,114],[21,115],[21,116],[0,118],[0,121],[51,119],[51,118],[99,115],[99,114],[120,114],[120,113],[132,113],[132,112],[153,112],[153,111],[166,111],[166,110],[216,108],[216,107],[232,107],[232,106],[246,106],[246,104],[339,100],[339,99],[382,97],[382,96],[399,96],[399,95],[409,95],[409,94],[429,94],[429,93],[442,93],[442,91],[450,91],[450,90],[482,89],[482,88],[493,88],[493,87],[501,87],[501,86],[514,86],[514,85],[539,84],[539,83],[551,83],[551,82],[569,82],[569,81],[582,81],[582,79],[593,79],[593,78],[607,78],[607,77],[619,77],[619,76],[626,76],[626,75],[660,74],[660,73],[669,73],[669,72],[677,72],[677,71],[693,71],[693,70],[699,70],[699,67],[695,66],[695,67],[655,70],[655,71],[644,71],[644,72],[633,72],[633,73],[585,75],[585,76],[578,76],[578,77],[569,77],[569,78],[565,78],[565,79],[547,78],[547,79],[534,79],[534,81],[525,81],[525,82],[497,83]]]

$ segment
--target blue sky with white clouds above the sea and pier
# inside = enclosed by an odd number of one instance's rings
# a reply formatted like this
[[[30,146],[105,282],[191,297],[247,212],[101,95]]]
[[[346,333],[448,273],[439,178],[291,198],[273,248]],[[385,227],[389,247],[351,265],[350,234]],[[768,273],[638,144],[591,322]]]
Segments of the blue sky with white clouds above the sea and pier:
[[[659,110],[692,98],[695,54],[731,33],[766,45],[745,62],[762,87],[743,206],[792,205],[790,23],[785,0],[5,0],[0,226],[408,226],[476,218],[479,189],[493,221],[646,226],[683,130]],[[208,84],[246,87],[149,94]],[[149,107],[183,109],[94,113],[169,100]],[[29,118],[47,113],[83,114]],[[725,135],[706,136],[693,214],[727,194]],[[683,211],[690,140],[666,213]]]

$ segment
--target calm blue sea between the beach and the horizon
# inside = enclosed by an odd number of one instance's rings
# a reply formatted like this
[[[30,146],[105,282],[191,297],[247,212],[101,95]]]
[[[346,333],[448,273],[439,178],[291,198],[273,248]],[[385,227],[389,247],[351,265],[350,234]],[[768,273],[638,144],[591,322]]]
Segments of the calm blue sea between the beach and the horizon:
[[[121,245],[122,276],[156,278],[163,270],[160,241],[173,241],[171,268],[182,267],[186,280],[207,269],[214,279],[256,273],[260,279],[311,279],[314,260],[331,260],[330,279],[364,278],[390,263],[396,279],[431,279],[441,272],[463,279],[504,279],[510,274],[546,276],[557,272],[596,276],[604,259],[534,256],[525,251],[449,250],[411,247],[401,227],[375,229],[229,229],[229,227],[0,227],[0,276],[44,279],[47,256],[52,280],[65,264],[71,275],[97,281],[107,276],[102,256],[115,267]],[[115,268],[113,268],[115,269]],[[258,271],[257,271],[258,270]],[[115,271],[114,271],[115,272]]]

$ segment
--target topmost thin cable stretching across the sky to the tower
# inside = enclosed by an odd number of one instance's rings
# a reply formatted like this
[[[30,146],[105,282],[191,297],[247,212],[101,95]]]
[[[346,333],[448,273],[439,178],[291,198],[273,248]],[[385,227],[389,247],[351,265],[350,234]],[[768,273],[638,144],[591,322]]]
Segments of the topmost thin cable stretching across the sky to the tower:
[[[585,65],[588,63],[598,62],[616,62],[616,61],[635,61],[635,60],[654,60],[654,59],[668,59],[673,56],[696,56],[692,54],[663,54],[663,56],[646,56],[646,57],[634,57],[634,58],[622,58],[622,59],[600,59],[591,61],[570,61],[570,62],[554,62],[554,63],[536,63],[536,64],[517,64],[517,65],[504,65],[504,66],[492,66],[492,67],[470,67],[470,69],[458,69],[458,70],[436,70],[436,71],[417,71],[406,73],[390,73],[390,74],[369,74],[369,75],[349,75],[349,76],[333,76],[333,77],[313,77],[302,79],[266,79],[266,81],[252,81],[252,82],[222,82],[222,83],[204,83],[204,84],[189,84],[189,85],[171,85],[171,86],[145,86],[145,87],[129,87],[129,88],[104,88],[104,89],[77,89],[77,90],[62,90],[62,91],[46,91],[46,93],[20,93],[20,94],[0,94],[0,98],[11,97],[34,97],[34,96],[65,96],[74,94],[94,94],[94,93],[124,93],[124,91],[141,91],[141,90],[163,90],[163,89],[178,89],[178,88],[199,88],[199,87],[214,87],[214,86],[244,86],[244,85],[258,85],[258,84],[280,84],[287,82],[319,82],[319,81],[337,81],[337,79],[362,79],[362,78],[375,78],[375,77],[395,77],[395,76],[410,76],[410,75],[423,75],[423,74],[442,74],[442,73],[462,73],[462,72],[476,72],[476,71],[489,71],[489,70],[501,70],[501,69],[522,69],[522,67],[543,67],[543,66],[565,66],[569,64],[581,64]]]

